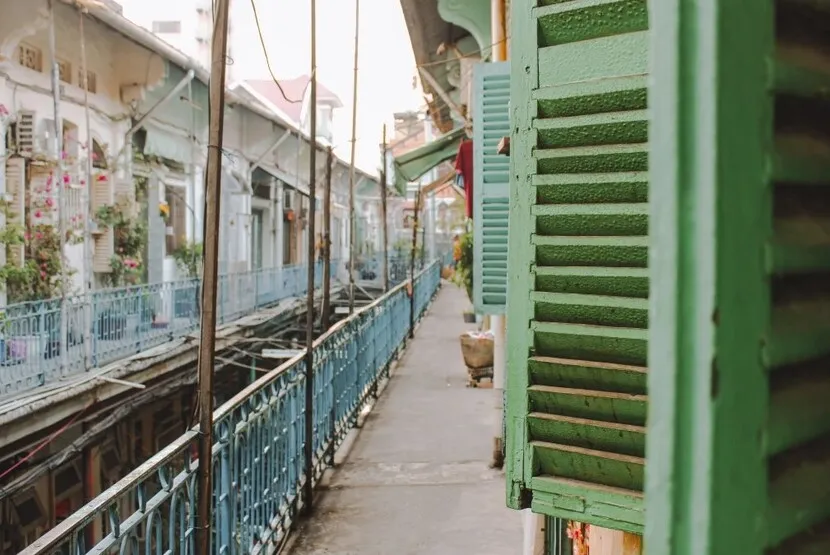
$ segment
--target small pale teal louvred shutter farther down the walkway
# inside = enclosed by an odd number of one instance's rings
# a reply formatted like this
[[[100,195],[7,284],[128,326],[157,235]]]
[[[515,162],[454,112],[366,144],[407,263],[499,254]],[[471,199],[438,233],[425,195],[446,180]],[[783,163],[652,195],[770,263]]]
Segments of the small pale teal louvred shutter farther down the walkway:
[[[510,159],[496,149],[510,135],[510,63],[473,66],[473,96],[473,304],[504,314]]]

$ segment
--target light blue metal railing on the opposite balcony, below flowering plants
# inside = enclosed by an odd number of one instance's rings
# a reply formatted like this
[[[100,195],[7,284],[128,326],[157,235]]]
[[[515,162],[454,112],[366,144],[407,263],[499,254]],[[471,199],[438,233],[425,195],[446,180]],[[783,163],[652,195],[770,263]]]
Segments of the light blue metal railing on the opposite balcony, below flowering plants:
[[[332,274],[335,273],[332,262]],[[306,291],[305,265],[221,275],[219,323]],[[316,283],[322,284],[322,264]],[[192,333],[199,325],[199,279],[101,289],[66,297],[66,357],[61,356],[61,299],[0,307],[0,396],[137,354]],[[87,349],[85,340],[91,342]]]

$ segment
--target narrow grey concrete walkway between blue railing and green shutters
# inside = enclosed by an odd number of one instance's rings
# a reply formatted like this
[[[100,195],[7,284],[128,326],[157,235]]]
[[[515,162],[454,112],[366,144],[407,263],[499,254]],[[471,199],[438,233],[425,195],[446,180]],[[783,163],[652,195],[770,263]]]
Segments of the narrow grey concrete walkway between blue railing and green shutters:
[[[466,387],[466,294],[445,285],[292,555],[514,555],[519,512],[488,468],[492,389]]]

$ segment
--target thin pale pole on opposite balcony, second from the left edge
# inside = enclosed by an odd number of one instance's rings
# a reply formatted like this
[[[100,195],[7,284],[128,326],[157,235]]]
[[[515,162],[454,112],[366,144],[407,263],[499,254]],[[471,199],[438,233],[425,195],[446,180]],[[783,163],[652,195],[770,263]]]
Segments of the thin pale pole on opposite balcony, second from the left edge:
[[[95,217],[95,206],[92,203],[92,154],[94,153],[92,143],[92,125],[89,117],[89,74],[87,73],[86,59],[86,33],[84,30],[85,9],[78,11],[78,31],[81,35],[81,85],[84,88],[84,118],[86,120],[86,187],[83,188],[83,200],[86,210],[86,221],[84,222],[84,278],[86,281],[86,302],[84,303],[84,368],[92,368],[92,290],[94,289],[95,275],[92,268],[92,224]]]

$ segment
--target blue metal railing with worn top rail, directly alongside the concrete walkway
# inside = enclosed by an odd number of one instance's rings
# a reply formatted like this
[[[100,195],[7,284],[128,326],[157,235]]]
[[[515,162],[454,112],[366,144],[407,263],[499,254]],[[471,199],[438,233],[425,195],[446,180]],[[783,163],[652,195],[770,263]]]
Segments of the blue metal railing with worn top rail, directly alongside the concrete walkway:
[[[415,276],[420,318],[440,285],[436,261]],[[410,298],[402,283],[314,343],[311,438],[317,482],[404,346]],[[278,546],[300,508],[305,480],[305,357],[271,371],[214,414],[213,552]],[[21,555],[195,554],[198,432],[191,430],[47,532]],[[103,523],[102,523],[103,521]],[[85,546],[102,523],[103,538]]]

